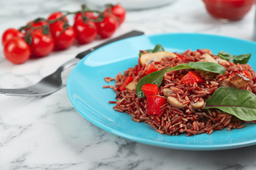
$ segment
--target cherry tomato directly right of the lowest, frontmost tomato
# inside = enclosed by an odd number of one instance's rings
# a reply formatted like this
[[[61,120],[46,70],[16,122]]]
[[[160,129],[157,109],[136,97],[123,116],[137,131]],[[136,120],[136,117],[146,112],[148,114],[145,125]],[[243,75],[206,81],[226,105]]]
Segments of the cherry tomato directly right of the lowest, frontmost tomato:
[[[42,29],[35,29],[31,31],[32,43],[30,49],[32,55],[38,58],[47,56],[53,51],[54,41],[51,33],[44,35]]]

